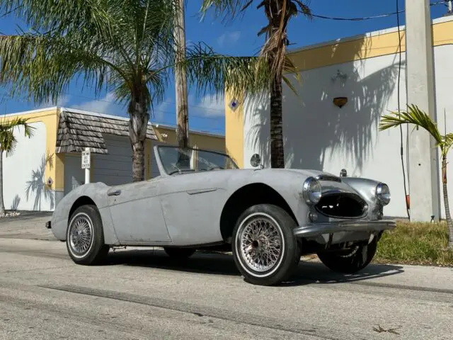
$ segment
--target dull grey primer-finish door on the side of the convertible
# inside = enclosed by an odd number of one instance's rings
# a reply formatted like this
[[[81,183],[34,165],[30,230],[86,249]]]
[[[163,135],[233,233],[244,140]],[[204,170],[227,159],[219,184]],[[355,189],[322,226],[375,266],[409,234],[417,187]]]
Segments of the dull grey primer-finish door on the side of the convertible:
[[[159,179],[114,186],[108,191],[108,203],[120,242],[171,242],[159,198]]]

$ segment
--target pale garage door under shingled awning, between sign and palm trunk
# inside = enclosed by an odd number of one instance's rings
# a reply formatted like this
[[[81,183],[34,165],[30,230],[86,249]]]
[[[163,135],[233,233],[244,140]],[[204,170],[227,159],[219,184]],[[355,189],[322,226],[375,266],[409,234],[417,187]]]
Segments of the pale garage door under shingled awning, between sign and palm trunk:
[[[93,182],[108,186],[132,182],[132,147],[129,137],[104,135],[108,154],[93,154]]]

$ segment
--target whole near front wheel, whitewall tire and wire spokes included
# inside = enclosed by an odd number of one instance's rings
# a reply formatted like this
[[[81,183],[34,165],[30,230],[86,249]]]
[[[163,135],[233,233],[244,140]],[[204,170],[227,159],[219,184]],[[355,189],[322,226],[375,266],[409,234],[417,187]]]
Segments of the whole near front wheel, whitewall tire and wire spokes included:
[[[301,256],[295,226],[292,217],[276,205],[253,205],[242,213],[231,250],[248,283],[275,285],[292,275]]]

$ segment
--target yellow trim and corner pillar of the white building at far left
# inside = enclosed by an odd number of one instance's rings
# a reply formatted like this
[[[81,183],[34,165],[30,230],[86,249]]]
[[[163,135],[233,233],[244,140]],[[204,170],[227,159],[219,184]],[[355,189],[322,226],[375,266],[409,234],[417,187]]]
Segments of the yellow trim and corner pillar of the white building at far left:
[[[49,162],[47,162],[45,167],[45,181],[50,177],[53,183],[48,188],[54,191],[64,191],[64,154],[55,154],[59,110],[57,108],[47,108],[20,115],[6,115],[4,119],[8,121],[14,118],[27,119],[27,123],[44,123],[46,129],[46,154],[49,157]]]

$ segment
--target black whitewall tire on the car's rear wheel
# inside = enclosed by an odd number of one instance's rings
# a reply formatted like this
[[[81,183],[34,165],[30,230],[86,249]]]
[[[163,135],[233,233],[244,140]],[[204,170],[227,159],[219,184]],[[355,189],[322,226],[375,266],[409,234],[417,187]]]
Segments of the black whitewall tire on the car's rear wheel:
[[[88,229],[91,229],[89,246],[83,251],[77,251],[73,239],[71,239],[71,232],[76,227],[77,222],[88,222]],[[91,228],[89,227],[90,224]],[[98,208],[95,205],[81,205],[69,217],[66,247],[72,261],[77,264],[94,265],[105,261],[110,247],[104,244],[101,215],[99,215]]]

